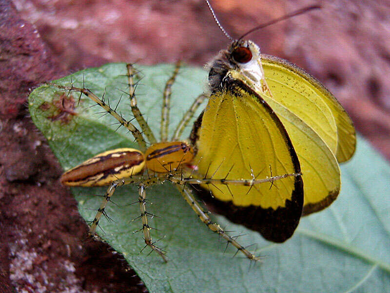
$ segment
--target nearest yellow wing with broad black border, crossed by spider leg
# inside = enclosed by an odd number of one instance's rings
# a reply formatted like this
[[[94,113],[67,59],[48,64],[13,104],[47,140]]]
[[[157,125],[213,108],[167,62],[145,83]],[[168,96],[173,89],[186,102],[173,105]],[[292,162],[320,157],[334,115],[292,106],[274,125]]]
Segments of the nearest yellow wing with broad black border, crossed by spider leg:
[[[226,89],[210,97],[197,132],[194,162],[199,173],[213,178],[248,179],[252,173],[266,178],[300,172],[289,136],[269,105],[243,82],[225,82]],[[206,188],[228,218],[275,242],[292,235],[302,213],[300,176],[252,188]]]

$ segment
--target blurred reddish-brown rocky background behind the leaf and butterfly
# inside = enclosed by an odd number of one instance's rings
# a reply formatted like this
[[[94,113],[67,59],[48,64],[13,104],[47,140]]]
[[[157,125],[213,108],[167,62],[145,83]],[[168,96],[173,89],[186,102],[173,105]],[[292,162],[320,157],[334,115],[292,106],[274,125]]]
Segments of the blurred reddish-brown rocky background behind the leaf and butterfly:
[[[233,37],[318,3],[249,38],[324,83],[390,159],[390,1],[212,0]],[[86,240],[28,117],[31,89],[109,62],[203,66],[228,43],[203,0],[0,1],[0,292],[146,291],[120,257]]]

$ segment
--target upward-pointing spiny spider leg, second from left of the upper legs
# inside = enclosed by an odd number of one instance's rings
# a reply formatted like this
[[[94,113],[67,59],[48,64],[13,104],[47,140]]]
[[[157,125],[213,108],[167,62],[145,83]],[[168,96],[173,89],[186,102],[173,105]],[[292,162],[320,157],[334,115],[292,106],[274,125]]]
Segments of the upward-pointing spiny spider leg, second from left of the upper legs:
[[[150,129],[148,123],[145,121],[145,118],[143,118],[142,113],[137,106],[137,99],[135,94],[136,86],[134,84],[134,79],[133,79],[134,75],[137,74],[137,70],[130,63],[126,65],[126,68],[127,68],[127,78],[129,83],[131,111],[133,112],[134,117],[137,119],[139,126],[141,126],[142,133],[145,134],[145,136],[148,138],[151,144],[156,144],[157,143],[156,137],[153,134],[152,129]]]

